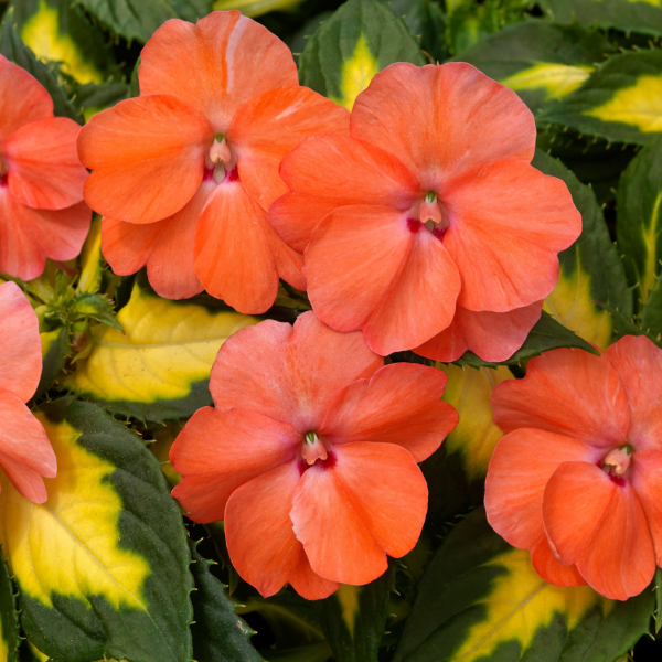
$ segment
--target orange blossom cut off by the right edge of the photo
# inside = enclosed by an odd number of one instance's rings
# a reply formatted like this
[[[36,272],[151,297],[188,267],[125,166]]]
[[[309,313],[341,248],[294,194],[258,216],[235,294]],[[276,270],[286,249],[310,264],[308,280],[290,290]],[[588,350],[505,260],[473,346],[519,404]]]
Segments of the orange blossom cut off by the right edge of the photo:
[[[542,577],[640,594],[662,565],[662,350],[626,337],[601,356],[555,350],[492,394],[493,528]]]

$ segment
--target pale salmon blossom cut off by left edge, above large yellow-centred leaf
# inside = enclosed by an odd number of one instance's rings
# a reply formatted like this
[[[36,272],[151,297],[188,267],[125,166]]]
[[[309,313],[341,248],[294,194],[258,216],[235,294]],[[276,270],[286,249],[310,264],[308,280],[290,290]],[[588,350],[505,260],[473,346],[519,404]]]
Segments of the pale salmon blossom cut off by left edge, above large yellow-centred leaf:
[[[43,503],[42,476],[53,478],[57,462],[42,424],[25,403],[42,372],[39,322],[14,282],[0,285],[0,469],[30,501]]]

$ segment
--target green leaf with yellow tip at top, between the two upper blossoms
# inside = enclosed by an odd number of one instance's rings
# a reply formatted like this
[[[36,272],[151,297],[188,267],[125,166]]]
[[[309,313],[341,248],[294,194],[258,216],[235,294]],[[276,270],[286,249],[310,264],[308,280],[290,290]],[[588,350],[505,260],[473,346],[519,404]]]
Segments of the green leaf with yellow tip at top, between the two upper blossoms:
[[[425,64],[406,25],[378,0],[349,0],[308,40],[299,78],[351,110],[373,76],[394,62]]]

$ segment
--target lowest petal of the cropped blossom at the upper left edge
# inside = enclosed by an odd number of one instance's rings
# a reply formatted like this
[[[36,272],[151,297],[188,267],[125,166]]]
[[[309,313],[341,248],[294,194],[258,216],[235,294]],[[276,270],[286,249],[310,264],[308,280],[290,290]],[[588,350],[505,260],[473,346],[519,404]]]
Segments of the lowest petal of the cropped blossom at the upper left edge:
[[[0,273],[32,280],[46,257],[66,261],[81,253],[92,210],[81,202],[66,210],[34,210],[0,186]]]

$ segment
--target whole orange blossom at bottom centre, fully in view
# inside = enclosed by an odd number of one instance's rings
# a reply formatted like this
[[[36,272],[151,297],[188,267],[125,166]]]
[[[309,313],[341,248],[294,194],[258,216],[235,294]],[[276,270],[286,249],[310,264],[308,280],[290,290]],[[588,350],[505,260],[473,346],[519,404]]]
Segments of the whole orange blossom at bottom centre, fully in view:
[[[417,462],[458,421],[433,367],[384,366],[361,333],[313,312],[267,320],[221,348],[210,388],[172,446],[173,490],[196,522],[225,520],[239,575],[263,596],[308,599],[366,584],[418,536],[427,485]]]

